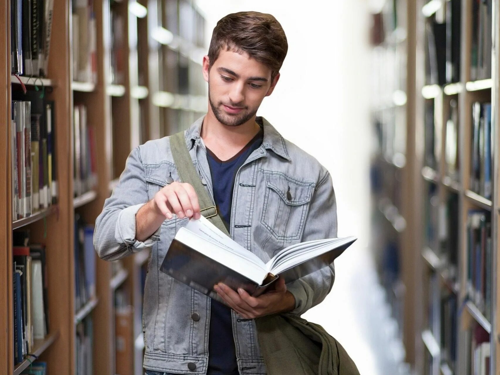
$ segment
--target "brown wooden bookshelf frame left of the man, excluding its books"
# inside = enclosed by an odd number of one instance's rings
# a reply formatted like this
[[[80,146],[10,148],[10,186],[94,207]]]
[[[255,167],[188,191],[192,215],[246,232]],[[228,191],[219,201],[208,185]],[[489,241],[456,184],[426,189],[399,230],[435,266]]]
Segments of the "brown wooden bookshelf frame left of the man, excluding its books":
[[[181,0],[179,0],[181,1]],[[171,3],[171,2],[170,2]],[[193,11],[195,5],[188,1]],[[132,6],[130,6],[132,5]],[[4,61],[0,83],[0,118],[10,123],[12,91],[19,92],[21,83],[27,90],[44,89],[45,96],[54,100],[55,154],[58,176],[57,204],[33,213],[29,217],[12,220],[10,183],[0,184],[2,206],[0,215],[0,330],[12,332],[12,230],[29,229],[32,243],[43,242],[47,248],[48,309],[50,331],[43,340],[35,340],[33,354],[47,362],[47,373],[76,373],[76,325],[92,318],[92,373],[114,375],[114,293],[125,289],[133,307],[133,327],[130,329],[134,349],[134,375],[142,374],[143,337],[141,327],[142,280],[147,269],[149,251],[141,251],[124,258],[123,269],[114,277],[111,263],[96,256],[96,296],[74,311],[75,259],[74,217],[75,213],[88,224],[93,224],[100,213],[104,200],[110,196],[118,183],[126,158],[133,147],[173,131],[187,127],[197,114],[206,110],[206,87],[201,75],[201,57],[206,52],[203,44],[185,40],[173,33],[176,44],[164,45],[154,40],[154,30],[167,29],[164,24],[164,1],[162,0],[101,0],[93,3],[96,26],[96,79],[79,80],[73,74],[73,24],[71,1],[54,0],[53,25],[47,77],[25,77],[10,74],[10,1],[0,4],[0,16],[4,21],[0,40]],[[122,56],[124,60],[121,81],[111,81],[110,9],[124,20]],[[135,10],[134,10],[135,9]],[[179,19],[189,27],[199,30],[194,19]],[[185,29],[185,28],[184,28]],[[199,31],[198,31],[199,32]],[[193,35],[196,33],[193,32]],[[204,40],[204,38],[201,38]],[[167,81],[176,77],[170,72],[164,54],[171,49],[187,58],[189,82],[179,90],[178,84]],[[161,57],[161,58],[160,58]],[[197,63],[195,63],[196,61]],[[163,64],[163,65],[160,65]],[[173,79],[173,78],[172,78]],[[165,91],[174,98],[166,109],[154,104]],[[164,95],[163,95],[164,98]],[[73,106],[84,104],[87,122],[95,135],[96,185],[79,196],[74,196],[73,181]],[[176,112],[172,112],[174,109]],[[178,116],[177,116],[178,114]],[[175,117],[174,117],[175,115]],[[177,118],[180,119],[176,123]],[[11,181],[10,127],[0,131],[0,175]],[[28,360],[14,366],[13,337],[6,335],[0,340],[0,373],[18,374],[27,367]]]

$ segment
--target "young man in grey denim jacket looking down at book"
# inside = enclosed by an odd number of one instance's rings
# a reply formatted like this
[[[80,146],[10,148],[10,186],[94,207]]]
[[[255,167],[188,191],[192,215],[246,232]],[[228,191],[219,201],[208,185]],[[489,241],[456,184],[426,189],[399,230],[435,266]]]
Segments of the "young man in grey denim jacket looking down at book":
[[[256,116],[287,48],[270,14],[220,19],[203,58],[208,111],[184,132],[231,237],[264,261],[292,243],[337,234],[328,171]],[[301,314],[321,302],[333,283],[333,264],[288,285],[280,281],[257,298],[220,284],[226,304],[219,303],[159,271],[176,231],[199,218],[200,208],[192,186],[178,180],[169,137],[148,141],[132,150],[104,203],[95,248],[105,260],[151,249],[143,304],[148,374],[265,374],[253,319]]]

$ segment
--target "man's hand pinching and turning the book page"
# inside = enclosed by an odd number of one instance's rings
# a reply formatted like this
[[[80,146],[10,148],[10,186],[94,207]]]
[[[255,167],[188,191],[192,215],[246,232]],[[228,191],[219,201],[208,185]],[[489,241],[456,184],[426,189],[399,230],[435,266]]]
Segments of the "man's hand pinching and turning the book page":
[[[189,183],[174,181],[166,185],[154,195],[152,203],[156,212],[167,219],[172,218],[172,213],[179,218],[201,216],[198,196]]]

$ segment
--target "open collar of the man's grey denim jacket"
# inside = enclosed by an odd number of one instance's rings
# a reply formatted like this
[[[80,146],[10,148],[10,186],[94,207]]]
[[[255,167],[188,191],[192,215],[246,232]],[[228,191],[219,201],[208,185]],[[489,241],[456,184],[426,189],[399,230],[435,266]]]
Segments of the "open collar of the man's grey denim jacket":
[[[185,132],[185,141],[188,149],[191,149],[194,142],[200,138],[201,125],[203,124],[203,119],[205,115],[198,118],[196,121],[189,126]],[[261,125],[264,129],[264,137],[262,140],[262,146],[268,150],[272,150],[275,154],[291,161],[290,155],[286,149],[284,138],[281,134],[272,126],[269,121],[267,121],[262,116],[255,117],[255,121]]]

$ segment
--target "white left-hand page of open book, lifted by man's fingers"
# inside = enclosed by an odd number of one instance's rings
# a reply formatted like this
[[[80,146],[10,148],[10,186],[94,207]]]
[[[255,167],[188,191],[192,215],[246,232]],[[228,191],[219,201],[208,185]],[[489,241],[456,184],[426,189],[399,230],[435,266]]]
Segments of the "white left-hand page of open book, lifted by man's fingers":
[[[184,228],[190,233],[193,233],[216,246],[224,248],[234,254],[237,254],[239,257],[252,262],[260,269],[265,269],[264,262],[260,260],[257,255],[235,242],[205,217],[201,216],[199,219],[189,219],[189,222],[186,226],[184,226]],[[175,238],[177,238],[177,236],[175,236]],[[197,248],[195,249],[197,250]]]

